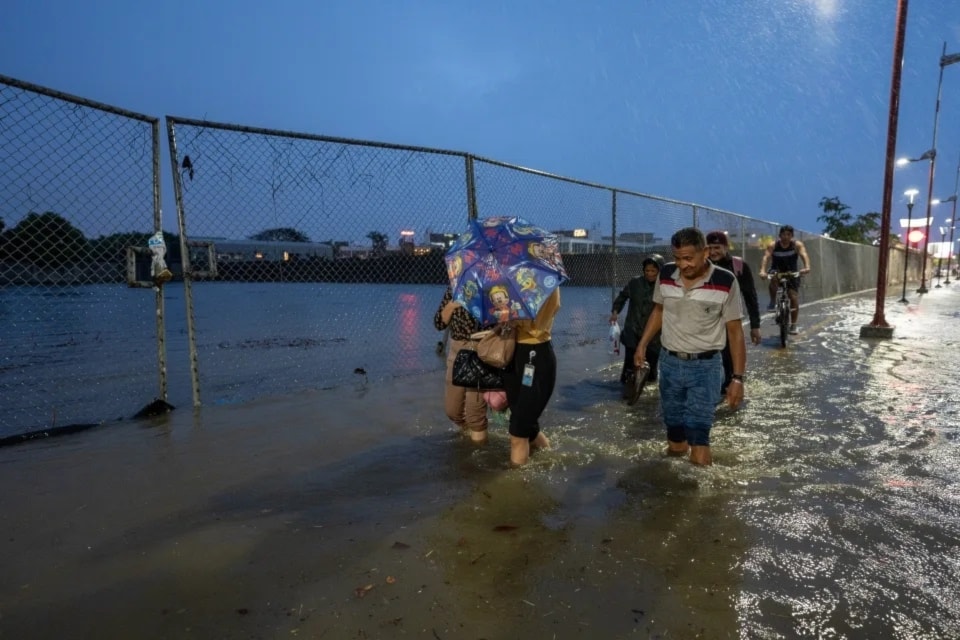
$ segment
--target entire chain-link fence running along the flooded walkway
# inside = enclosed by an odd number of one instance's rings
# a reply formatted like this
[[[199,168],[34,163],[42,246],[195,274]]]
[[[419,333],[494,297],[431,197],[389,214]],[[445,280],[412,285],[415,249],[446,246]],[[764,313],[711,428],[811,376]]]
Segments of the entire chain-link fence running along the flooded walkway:
[[[779,227],[466,153],[168,117],[162,284],[158,138],[156,119],[0,76],[0,437],[129,416],[168,386],[199,405],[440,370],[443,254],[470,217],[560,235],[559,348],[603,339],[678,228],[726,231],[756,275]],[[875,286],[876,248],[797,237],[804,300]]]

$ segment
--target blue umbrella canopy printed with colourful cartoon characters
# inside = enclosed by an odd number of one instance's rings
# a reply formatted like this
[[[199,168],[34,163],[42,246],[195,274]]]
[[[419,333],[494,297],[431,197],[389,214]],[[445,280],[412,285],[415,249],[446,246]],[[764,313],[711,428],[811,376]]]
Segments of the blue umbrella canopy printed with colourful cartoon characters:
[[[445,260],[453,299],[485,325],[536,317],[568,279],[557,236],[518,216],[471,220]]]

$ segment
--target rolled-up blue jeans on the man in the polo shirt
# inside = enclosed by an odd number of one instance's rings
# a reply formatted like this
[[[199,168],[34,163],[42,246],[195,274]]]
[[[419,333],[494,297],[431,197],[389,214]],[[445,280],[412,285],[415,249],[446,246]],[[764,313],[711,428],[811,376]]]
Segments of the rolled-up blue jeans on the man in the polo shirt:
[[[660,408],[667,440],[709,445],[713,414],[720,402],[723,359],[681,360],[660,353]]]

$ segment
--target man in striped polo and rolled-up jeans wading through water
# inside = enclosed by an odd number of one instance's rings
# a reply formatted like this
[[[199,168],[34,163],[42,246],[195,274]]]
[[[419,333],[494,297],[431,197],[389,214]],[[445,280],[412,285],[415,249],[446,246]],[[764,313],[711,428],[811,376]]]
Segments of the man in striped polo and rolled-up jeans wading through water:
[[[667,427],[667,454],[689,452],[690,462],[709,465],[710,429],[723,382],[720,352],[726,341],[733,359],[727,404],[736,408],[743,400],[747,347],[740,285],[733,273],[707,259],[709,249],[699,229],[680,229],[670,244],[674,261],[660,270],[653,313],[633,361],[643,366],[647,344],[661,331],[660,408]]]

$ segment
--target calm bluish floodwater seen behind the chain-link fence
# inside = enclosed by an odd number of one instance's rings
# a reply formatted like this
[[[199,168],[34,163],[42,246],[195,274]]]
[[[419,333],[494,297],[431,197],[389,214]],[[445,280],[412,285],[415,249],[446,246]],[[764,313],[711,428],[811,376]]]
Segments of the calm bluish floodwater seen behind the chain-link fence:
[[[370,379],[440,372],[433,314],[443,285],[200,283],[194,286],[202,403],[250,402]],[[170,404],[191,404],[182,283],[164,288]],[[568,287],[558,350],[606,335],[611,290]],[[157,396],[148,289],[0,289],[0,438],[135,415]]]

